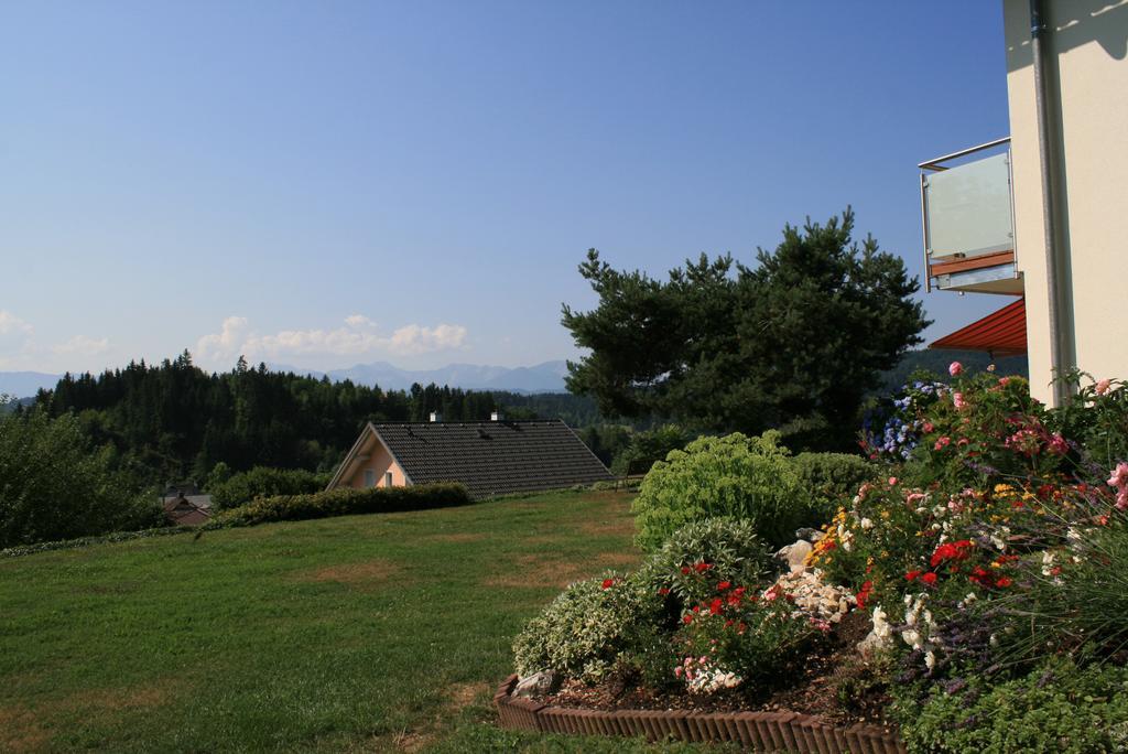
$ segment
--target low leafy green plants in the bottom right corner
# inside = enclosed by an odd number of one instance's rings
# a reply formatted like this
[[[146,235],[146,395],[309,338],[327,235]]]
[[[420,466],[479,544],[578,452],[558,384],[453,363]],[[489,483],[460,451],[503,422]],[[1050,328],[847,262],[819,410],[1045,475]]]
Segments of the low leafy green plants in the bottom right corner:
[[[1128,669],[1051,659],[997,685],[971,677],[933,689],[924,705],[906,690],[895,710],[910,752],[1121,752],[1128,746]]]

